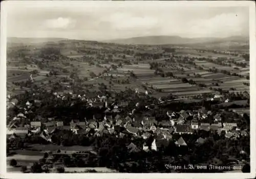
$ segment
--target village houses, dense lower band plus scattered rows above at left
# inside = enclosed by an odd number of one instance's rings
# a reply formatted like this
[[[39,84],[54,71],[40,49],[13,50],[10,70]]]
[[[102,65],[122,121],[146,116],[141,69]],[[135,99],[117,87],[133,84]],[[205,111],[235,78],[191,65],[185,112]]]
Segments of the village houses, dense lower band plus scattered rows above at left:
[[[64,94],[54,93],[56,98],[65,99]],[[72,95],[72,94],[71,94]],[[66,95],[67,96],[67,95]],[[134,136],[141,137],[143,139],[150,138],[153,134],[158,136],[157,139],[152,141],[151,149],[156,149],[159,141],[167,142],[172,139],[174,133],[193,134],[195,130],[216,131],[221,135],[222,131],[225,132],[225,137],[230,139],[236,139],[240,136],[247,136],[246,130],[240,130],[237,123],[222,123],[221,114],[213,115],[211,111],[201,108],[199,110],[181,110],[179,112],[167,111],[166,115],[169,120],[162,120],[158,122],[155,117],[145,114],[142,117],[136,116],[136,104],[132,112],[125,116],[120,116],[122,107],[129,105],[126,101],[114,102],[114,99],[106,98],[105,96],[98,96],[97,98],[86,98],[85,95],[73,95],[75,98],[81,98],[86,100],[89,106],[105,107],[104,119],[84,119],[71,120],[70,125],[64,125],[62,121],[56,121],[53,118],[48,118],[48,122],[42,123],[40,119],[33,120],[29,124],[23,124],[17,126],[16,121],[18,119],[26,118],[22,113],[19,113],[17,117],[10,122],[7,126],[7,135],[22,135],[28,133],[38,134],[43,139],[51,142],[51,135],[56,128],[68,129],[74,132],[74,134],[86,134],[101,136],[103,133],[115,134],[117,137],[123,137],[125,133],[131,133]],[[215,96],[215,98],[221,98]],[[15,104],[17,101],[15,101]],[[39,100],[27,101],[24,108],[25,114],[30,112],[32,105],[40,104]],[[72,105],[72,104],[71,104]],[[111,109],[112,108],[112,109]],[[202,120],[206,120],[211,116],[214,119],[214,123],[204,123]],[[44,125],[44,130],[41,130],[41,126]],[[202,139],[199,139],[202,141]],[[185,141],[181,137],[176,141],[178,146],[186,145]],[[148,146],[143,146],[144,150],[148,150]]]

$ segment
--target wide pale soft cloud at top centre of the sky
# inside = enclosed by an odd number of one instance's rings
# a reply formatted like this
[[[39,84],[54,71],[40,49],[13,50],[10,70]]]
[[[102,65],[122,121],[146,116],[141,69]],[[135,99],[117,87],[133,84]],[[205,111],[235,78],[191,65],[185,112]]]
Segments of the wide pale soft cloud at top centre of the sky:
[[[135,16],[129,13],[114,13],[108,19],[116,30],[138,30],[154,28],[158,19],[150,16]]]

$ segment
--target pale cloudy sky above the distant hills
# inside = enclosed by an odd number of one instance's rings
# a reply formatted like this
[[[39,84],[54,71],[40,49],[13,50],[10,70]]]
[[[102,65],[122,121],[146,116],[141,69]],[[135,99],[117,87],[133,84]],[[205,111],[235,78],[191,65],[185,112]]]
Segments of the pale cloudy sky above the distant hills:
[[[138,36],[249,36],[248,7],[166,4],[19,6],[7,11],[8,37],[109,40]]]

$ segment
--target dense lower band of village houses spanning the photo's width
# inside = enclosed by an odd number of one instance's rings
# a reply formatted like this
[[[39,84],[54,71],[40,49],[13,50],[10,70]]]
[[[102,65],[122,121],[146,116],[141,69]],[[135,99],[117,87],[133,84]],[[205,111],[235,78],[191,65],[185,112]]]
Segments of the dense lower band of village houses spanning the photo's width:
[[[55,121],[52,118],[48,119],[48,122],[41,123],[40,121],[31,121],[30,124],[25,124],[23,128],[15,126],[15,123],[8,126],[8,133],[37,133],[40,137],[51,142],[51,134],[56,128],[68,129],[74,132],[74,134],[84,134],[89,136],[101,136],[103,133],[114,134],[116,137],[123,137],[126,133],[131,133],[136,137],[141,137],[144,140],[149,139],[152,135],[157,136],[152,143],[151,149],[157,150],[159,142],[165,144],[168,143],[174,133],[193,134],[195,130],[216,131],[221,135],[222,131],[225,133],[226,138],[237,139],[240,136],[247,136],[246,130],[240,130],[237,123],[222,123],[221,115],[216,114],[214,116],[214,123],[203,123],[200,119],[206,119],[209,115],[212,115],[211,111],[207,111],[204,108],[197,111],[181,110],[179,113],[174,111],[167,111],[169,120],[156,121],[155,117],[150,115],[144,115],[143,117],[137,117],[135,115],[128,115],[125,118],[120,115],[112,116],[105,115],[103,120],[97,120],[95,118],[83,121],[71,120],[69,126],[63,125],[62,121]],[[19,117],[22,114],[18,115]],[[15,120],[14,120],[15,121]],[[45,129],[40,130],[40,127],[44,125]],[[202,143],[205,139],[198,139],[198,143]],[[186,142],[181,137],[175,142],[178,146],[185,146]],[[162,145],[162,144],[161,144]],[[132,147],[134,145],[131,145]],[[131,150],[137,150],[134,149]],[[147,151],[148,146],[144,145],[143,150]]]

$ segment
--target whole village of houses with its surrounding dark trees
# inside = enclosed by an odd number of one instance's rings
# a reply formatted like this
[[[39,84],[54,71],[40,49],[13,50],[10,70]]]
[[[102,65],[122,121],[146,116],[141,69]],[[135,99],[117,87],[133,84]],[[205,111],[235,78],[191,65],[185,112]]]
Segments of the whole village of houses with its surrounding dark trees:
[[[35,108],[40,109],[40,106],[44,103],[44,99],[39,100],[41,94],[36,92],[33,92],[33,94],[30,93],[29,98],[27,98],[29,100],[25,101],[25,99],[22,99],[21,102],[9,95],[7,99],[8,108],[17,109],[15,110],[17,114],[9,114],[9,123],[7,125],[7,138],[10,144],[10,148],[8,148],[9,151],[12,149],[11,144],[16,144],[13,141],[17,139],[23,141],[23,143],[44,144],[47,148],[48,145],[95,145],[95,143],[92,144],[89,142],[90,138],[97,139],[110,137],[115,140],[128,138],[129,140],[125,143],[125,149],[126,152],[133,154],[136,152],[163,152],[163,150],[170,145],[175,145],[177,149],[180,148],[178,149],[180,151],[184,150],[182,148],[186,148],[186,150],[189,151],[193,150],[193,145],[208,145],[211,140],[217,142],[218,140],[223,139],[225,141],[230,141],[230,143],[232,143],[232,141],[237,143],[240,140],[248,140],[249,138],[249,121],[246,121],[249,117],[243,113],[238,114],[235,110],[208,110],[206,107],[181,110],[165,109],[160,110],[159,113],[162,113],[162,119],[159,119],[159,117],[156,117],[157,115],[151,113],[151,110],[153,110],[152,104],[145,103],[146,100],[151,99],[151,97],[147,96],[147,92],[145,92],[145,94],[137,94],[137,92],[134,92],[134,95],[139,96],[139,100],[141,101],[141,103],[135,103],[133,101],[133,104],[135,104],[134,106],[131,105],[131,100],[117,100],[108,95],[108,97],[106,97],[104,95],[100,96],[94,94],[94,97],[87,97],[86,94],[77,95],[67,92],[53,92],[48,93],[48,95],[51,96],[50,98],[48,96],[48,98],[53,102],[54,100],[64,102],[61,105],[65,104],[65,101],[68,101],[67,103],[70,104],[69,107],[75,106],[76,102],[78,103],[79,101],[79,104],[83,105],[84,109],[91,110],[91,116],[84,118],[79,117],[80,119],[67,118],[66,120],[63,120],[54,116],[43,118],[34,115],[35,117],[31,119],[31,114],[35,111]],[[228,102],[228,99],[223,98],[221,95],[215,95],[212,99],[204,99],[204,101],[209,103],[221,101]],[[163,103],[164,101],[155,99],[154,105],[155,107],[158,107]],[[47,104],[49,105],[49,102]],[[61,112],[64,113],[64,111]],[[224,115],[225,113],[229,113],[230,119],[226,118],[226,115]],[[236,116],[236,118],[233,118],[230,114]],[[64,116],[65,115],[63,114],[63,117]],[[89,141],[84,143],[84,137],[89,138]],[[74,143],[74,140],[78,140],[78,142]],[[191,141],[194,141],[193,145],[191,145]],[[18,149],[21,148],[26,150],[24,144],[20,145]],[[53,148],[55,149],[45,149],[45,151],[42,152],[54,153],[54,157],[51,156],[52,159],[56,158],[55,155],[76,154],[83,158],[83,161],[87,161],[79,165],[87,167],[95,166],[93,162],[88,162],[88,154],[86,157],[83,156],[85,155],[84,152],[89,152],[90,156],[93,155],[94,158],[97,158],[96,156],[98,154],[95,147],[94,149],[90,149],[90,151],[83,149],[80,151],[61,150],[61,147]],[[232,165],[241,165],[240,163],[242,161],[245,162],[248,158],[248,148],[246,145],[241,146],[238,152],[239,153],[234,157],[235,160],[232,159],[231,161]],[[241,160],[236,158],[241,158]],[[54,165],[55,167],[53,167],[53,162],[50,162],[50,165],[48,158],[44,159],[44,162],[41,164],[41,171],[45,171],[46,168],[48,172],[49,168],[55,168],[54,171],[57,170],[56,168],[58,168],[58,171],[63,171],[64,168],[67,167],[67,164],[65,164],[63,160],[62,162],[61,160],[55,161],[55,163],[57,162],[57,164],[60,163],[61,165]],[[211,160],[217,160],[218,164],[224,163],[224,161],[216,158]],[[225,160],[225,162],[227,161]],[[227,163],[230,163],[230,161]],[[73,165],[77,167],[78,164]],[[120,165],[121,164],[116,168],[114,167],[114,169],[119,172],[122,171]],[[65,168],[66,172],[69,171],[68,168]]]

